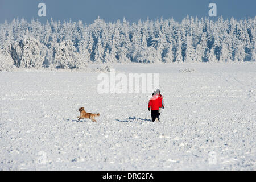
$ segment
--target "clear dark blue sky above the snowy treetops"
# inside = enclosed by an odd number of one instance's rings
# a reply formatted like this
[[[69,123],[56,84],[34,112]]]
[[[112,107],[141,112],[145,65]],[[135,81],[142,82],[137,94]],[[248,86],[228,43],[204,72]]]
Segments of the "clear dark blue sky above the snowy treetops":
[[[46,18],[38,16],[40,2],[46,3]],[[0,0],[0,23],[17,17],[28,21],[34,18],[46,22],[53,18],[61,22],[71,19],[92,23],[97,16],[105,22],[115,22],[123,17],[130,23],[161,17],[180,21],[187,15],[208,16],[210,2],[217,5],[217,18],[222,15],[224,19],[244,19],[256,15],[255,0]]]

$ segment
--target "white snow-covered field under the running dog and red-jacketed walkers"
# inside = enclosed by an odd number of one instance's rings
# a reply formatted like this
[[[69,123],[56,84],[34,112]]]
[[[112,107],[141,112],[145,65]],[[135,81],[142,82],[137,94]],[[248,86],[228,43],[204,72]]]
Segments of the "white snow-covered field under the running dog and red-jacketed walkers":
[[[0,169],[256,169],[255,63],[113,67],[159,73],[160,123],[148,94],[98,94],[99,73],[0,72]]]

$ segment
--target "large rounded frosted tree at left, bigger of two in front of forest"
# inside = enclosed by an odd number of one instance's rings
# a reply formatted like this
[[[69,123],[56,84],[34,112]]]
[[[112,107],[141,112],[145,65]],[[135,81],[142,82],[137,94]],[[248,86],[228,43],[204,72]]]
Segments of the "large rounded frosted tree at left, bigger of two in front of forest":
[[[46,50],[46,46],[35,38],[25,37],[11,46],[10,53],[18,68],[41,68]]]

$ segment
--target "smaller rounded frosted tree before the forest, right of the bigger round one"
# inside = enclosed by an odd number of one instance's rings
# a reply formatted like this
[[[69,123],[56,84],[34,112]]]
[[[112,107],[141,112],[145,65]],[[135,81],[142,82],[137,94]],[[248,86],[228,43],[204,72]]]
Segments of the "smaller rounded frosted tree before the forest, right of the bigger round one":
[[[71,40],[57,43],[53,51],[53,65],[55,68],[84,68],[85,62],[81,61],[79,53]]]

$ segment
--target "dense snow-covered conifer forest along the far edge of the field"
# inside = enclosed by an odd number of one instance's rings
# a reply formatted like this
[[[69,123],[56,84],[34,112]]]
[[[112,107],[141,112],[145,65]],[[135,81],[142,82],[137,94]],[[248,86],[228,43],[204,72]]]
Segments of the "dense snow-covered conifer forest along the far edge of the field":
[[[13,19],[0,24],[0,71],[84,69],[90,63],[255,61],[255,20],[193,18],[92,24]]]

